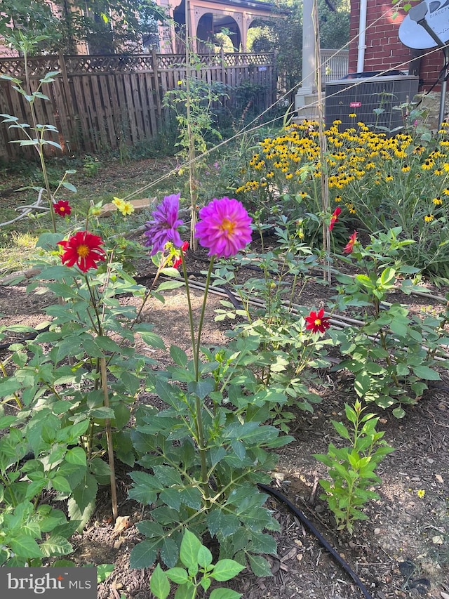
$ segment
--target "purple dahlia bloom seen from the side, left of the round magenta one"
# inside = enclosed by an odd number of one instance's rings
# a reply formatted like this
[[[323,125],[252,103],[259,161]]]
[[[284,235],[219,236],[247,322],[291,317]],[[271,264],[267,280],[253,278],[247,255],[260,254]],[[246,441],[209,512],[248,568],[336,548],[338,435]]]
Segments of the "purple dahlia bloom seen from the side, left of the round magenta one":
[[[166,195],[162,203],[152,212],[153,220],[146,224],[144,235],[148,237],[146,246],[152,246],[152,256],[158,251],[163,251],[167,242],[172,242],[175,247],[182,246],[182,239],[178,228],[183,224],[178,218],[180,209],[180,193]]]

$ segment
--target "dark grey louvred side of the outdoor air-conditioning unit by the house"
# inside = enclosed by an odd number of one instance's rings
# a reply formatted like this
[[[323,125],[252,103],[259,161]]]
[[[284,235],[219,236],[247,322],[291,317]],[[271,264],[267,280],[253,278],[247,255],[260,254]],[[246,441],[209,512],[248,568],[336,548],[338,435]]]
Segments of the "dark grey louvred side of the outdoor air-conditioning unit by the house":
[[[370,79],[342,79],[326,84],[326,126],[340,120],[340,131],[362,121],[368,126],[384,127],[391,131],[403,126],[401,110],[393,110],[411,102],[418,91],[418,77],[370,77]],[[383,112],[375,114],[375,108]],[[356,118],[349,118],[356,114]],[[384,131],[384,129],[380,129]]]

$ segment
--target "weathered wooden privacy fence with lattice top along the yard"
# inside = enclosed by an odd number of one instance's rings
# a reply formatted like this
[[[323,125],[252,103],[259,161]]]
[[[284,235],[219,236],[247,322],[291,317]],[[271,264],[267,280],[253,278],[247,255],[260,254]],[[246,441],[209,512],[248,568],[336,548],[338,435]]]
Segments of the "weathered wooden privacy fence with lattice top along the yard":
[[[273,54],[204,54],[199,59],[201,67],[193,70],[194,76],[208,84],[221,81],[227,94],[223,102],[228,107],[235,105],[243,81],[250,82],[255,92],[251,102],[256,110],[262,112],[275,102]],[[65,153],[99,152],[155,138],[170,119],[163,97],[186,77],[181,54],[49,55],[29,58],[27,68],[32,91],[46,73],[59,72],[42,90],[49,100],[36,99],[35,107],[39,124],[58,129],[53,140]],[[23,59],[1,59],[0,74],[23,81]],[[0,113],[31,123],[27,101],[4,79],[0,79]],[[11,143],[20,138],[19,129],[0,124],[0,157],[31,155],[32,148]]]

